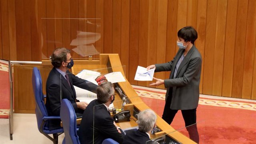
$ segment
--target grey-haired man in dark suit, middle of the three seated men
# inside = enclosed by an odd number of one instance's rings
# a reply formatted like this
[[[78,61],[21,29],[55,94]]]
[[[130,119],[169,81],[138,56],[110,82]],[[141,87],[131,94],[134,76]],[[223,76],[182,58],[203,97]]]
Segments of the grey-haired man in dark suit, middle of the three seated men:
[[[97,99],[90,102],[84,110],[78,136],[81,144],[102,144],[106,138],[112,138],[122,144],[124,135],[108,112],[115,99],[115,90],[111,82],[103,82],[97,88]]]

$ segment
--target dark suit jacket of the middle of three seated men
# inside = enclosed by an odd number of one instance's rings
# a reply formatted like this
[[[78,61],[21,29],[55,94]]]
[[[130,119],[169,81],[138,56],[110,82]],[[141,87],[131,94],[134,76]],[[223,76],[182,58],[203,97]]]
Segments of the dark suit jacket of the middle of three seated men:
[[[94,122],[93,122],[94,121]],[[106,138],[112,138],[122,144],[124,135],[118,133],[113,118],[105,105],[93,100],[84,110],[78,136],[81,144],[102,144]]]

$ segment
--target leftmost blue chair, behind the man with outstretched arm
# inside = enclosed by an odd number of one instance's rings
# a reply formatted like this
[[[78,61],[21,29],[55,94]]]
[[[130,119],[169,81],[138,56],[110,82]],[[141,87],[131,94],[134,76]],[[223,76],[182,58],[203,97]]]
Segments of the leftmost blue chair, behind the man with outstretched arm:
[[[52,140],[54,144],[58,144],[58,136],[64,132],[63,128],[57,128],[49,130],[47,124],[50,119],[60,119],[60,116],[48,116],[46,107],[44,105],[44,95],[42,91],[42,78],[40,71],[37,67],[33,68],[32,73],[32,86],[34,91],[34,97],[36,100],[36,120],[38,130],[44,134],[47,138]],[[48,134],[53,134],[53,138]]]

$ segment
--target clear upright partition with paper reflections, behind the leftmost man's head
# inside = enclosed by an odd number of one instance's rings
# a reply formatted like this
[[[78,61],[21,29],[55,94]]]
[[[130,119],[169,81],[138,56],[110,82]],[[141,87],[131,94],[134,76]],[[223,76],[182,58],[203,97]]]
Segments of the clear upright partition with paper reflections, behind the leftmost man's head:
[[[58,47],[70,49],[73,59],[99,59],[101,34],[100,18],[42,18],[42,59],[48,60]]]

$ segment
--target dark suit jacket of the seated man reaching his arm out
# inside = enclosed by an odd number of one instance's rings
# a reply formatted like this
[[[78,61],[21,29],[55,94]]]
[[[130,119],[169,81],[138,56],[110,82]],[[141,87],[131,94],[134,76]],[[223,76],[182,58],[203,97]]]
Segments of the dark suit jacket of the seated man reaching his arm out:
[[[83,110],[78,108],[75,102],[76,91],[74,89],[74,85],[76,87],[96,93],[96,88],[98,87],[97,85],[84,79],[80,79],[69,71],[66,71],[66,73],[68,73],[71,86],[68,84],[65,77],[63,77],[63,75],[56,70],[56,68],[53,68],[48,75],[48,79],[46,81],[45,105],[49,116],[60,116],[61,99],[68,99],[76,112],[83,113]],[[60,127],[60,120],[51,120],[48,123],[48,126],[50,129],[58,128]]]

